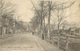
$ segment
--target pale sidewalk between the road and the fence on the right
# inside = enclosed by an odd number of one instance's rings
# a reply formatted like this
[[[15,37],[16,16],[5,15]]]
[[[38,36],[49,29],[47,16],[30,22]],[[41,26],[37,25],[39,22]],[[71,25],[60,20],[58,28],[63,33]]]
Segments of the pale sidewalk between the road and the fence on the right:
[[[45,40],[42,40],[41,38],[39,38],[35,35],[33,37],[37,41],[37,43],[39,43],[40,46],[44,49],[43,51],[62,51],[58,47],[55,47],[54,45],[48,43]]]

